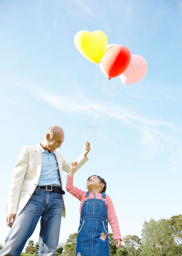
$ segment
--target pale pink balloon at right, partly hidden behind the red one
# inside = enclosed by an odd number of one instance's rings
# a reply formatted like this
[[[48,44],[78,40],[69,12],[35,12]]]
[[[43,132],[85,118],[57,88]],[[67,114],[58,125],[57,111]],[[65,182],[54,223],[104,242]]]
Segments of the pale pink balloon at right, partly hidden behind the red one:
[[[138,83],[147,72],[147,62],[140,55],[132,55],[128,68],[120,75],[122,84]]]

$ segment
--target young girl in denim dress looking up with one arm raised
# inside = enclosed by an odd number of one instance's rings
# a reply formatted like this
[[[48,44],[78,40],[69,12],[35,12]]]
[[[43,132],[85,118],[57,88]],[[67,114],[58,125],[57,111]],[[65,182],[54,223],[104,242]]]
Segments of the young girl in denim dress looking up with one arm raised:
[[[73,186],[73,175],[78,163],[70,164],[66,190],[81,201],[80,226],[76,242],[76,256],[109,256],[108,222],[116,247],[121,247],[121,235],[112,201],[105,194],[106,182],[93,175],[87,180],[88,192]]]

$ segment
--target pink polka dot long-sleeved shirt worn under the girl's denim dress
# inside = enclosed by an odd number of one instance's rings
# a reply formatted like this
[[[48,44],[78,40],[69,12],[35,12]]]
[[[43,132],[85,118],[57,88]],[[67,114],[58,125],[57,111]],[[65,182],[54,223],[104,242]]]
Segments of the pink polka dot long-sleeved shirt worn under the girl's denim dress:
[[[83,191],[81,189],[74,187],[73,186],[73,176],[70,177],[68,175],[67,175],[67,182],[66,182],[66,190],[68,192],[70,192],[73,196],[78,198],[78,200],[81,201],[81,204],[80,204],[80,214],[81,214],[82,206],[83,206],[83,203],[85,200],[86,191]],[[103,199],[101,193],[95,193],[95,194],[96,194],[96,198]],[[94,194],[90,193],[88,198],[94,198]],[[106,202],[108,221],[109,221],[109,224],[112,229],[112,234],[114,236],[114,240],[120,239],[122,241],[121,234],[120,234],[120,228],[119,228],[119,224],[118,224],[118,219],[116,217],[116,212],[114,210],[112,201],[108,195],[106,195],[106,198],[104,198],[104,200]]]

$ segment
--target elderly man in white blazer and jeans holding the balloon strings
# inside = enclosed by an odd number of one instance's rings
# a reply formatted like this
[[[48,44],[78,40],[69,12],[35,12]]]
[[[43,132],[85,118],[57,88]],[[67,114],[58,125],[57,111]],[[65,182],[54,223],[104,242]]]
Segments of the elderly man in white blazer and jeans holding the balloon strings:
[[[8,194],[6,224],[11,230],[1,256],[19,256],[40,217],[39,256],[56,254],[61,217],[65,217],[62,170],[70,170],[70,164],[56,151],[62,142],[62,128],[50,126],[42,143],[22,148]],[[88,160],[89,151],[86,142],[77,170]]]

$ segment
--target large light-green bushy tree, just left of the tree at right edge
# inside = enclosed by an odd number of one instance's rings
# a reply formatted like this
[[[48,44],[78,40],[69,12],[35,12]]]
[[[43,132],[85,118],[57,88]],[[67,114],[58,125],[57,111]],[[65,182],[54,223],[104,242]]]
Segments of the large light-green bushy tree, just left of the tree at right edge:
[[[142,229],[142,253],[147,256],[175,256],[172,232],[166,220],[151,219]]]

